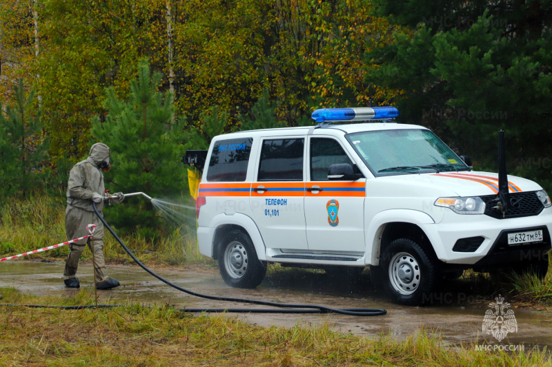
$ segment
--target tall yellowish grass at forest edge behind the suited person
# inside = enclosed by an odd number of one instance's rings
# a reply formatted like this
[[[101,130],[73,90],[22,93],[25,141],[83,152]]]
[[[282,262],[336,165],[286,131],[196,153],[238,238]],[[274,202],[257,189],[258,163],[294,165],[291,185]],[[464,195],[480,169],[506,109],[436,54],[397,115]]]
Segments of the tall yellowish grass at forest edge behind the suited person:
[[[17,255],[26,251],[48,247],[68,240],[65,232],[64,201],[48,196],[32,196],[27,200],[6,198],[0,204],[0,254]],[[117,229],[115,229],[117,231]],[[181,266],[184,264],[214,264],[199,253],[195,229],[173,230],[166,238],[146,240],[139,235],[126,235],[121,239],[139,260],[150,264]],[[132,262],[119,243],[106,231],[104,235],[106,260],[117,263]],[[32,258],[66,258],[69,247],[59,247]],[[83,260],[91,260],[88,249]]]

